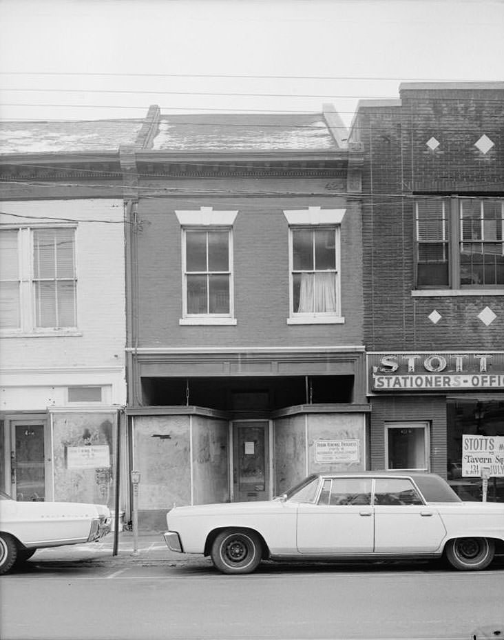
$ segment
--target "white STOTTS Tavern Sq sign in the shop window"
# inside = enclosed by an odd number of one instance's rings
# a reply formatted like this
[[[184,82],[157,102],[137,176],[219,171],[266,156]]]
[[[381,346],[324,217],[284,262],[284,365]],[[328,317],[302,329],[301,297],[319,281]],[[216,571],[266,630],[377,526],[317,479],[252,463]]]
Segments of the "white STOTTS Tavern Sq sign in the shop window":
[[[481,478],[483,471],[504,478],[504,437],[463,435],[462,477]]]

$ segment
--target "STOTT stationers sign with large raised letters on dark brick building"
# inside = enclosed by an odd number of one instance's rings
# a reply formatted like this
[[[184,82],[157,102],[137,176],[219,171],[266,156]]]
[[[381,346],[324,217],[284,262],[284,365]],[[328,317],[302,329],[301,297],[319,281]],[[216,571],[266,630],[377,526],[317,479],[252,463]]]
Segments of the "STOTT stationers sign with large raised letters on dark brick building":
[[[504,389],[504,352],[371,352],[373,391]]]

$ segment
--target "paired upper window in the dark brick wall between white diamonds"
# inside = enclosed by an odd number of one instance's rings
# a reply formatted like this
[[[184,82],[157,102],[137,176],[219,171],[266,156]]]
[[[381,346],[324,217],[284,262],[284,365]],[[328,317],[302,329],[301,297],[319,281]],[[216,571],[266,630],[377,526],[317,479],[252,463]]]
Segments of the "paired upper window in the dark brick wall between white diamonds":
[[[504,201],[422,199],[415,203],[417,288],[504,285]]]

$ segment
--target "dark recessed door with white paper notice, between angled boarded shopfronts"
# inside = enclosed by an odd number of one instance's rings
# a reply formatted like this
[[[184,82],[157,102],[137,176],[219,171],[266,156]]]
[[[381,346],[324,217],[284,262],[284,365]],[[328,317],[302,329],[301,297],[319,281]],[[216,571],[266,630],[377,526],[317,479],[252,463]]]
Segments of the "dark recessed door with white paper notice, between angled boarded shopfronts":
[[[269,499],[269,422],[233,423],[233,497],[235,502]]]

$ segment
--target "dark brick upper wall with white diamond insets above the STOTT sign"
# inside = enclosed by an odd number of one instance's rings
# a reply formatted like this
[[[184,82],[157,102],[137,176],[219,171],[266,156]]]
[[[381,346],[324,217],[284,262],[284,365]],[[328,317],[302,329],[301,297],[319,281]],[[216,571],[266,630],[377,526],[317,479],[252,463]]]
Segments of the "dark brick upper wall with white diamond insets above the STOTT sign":
[[[502,296],[413,297],[414,192],[504,194],[504,90],[403,89],[401,106],[362,106],[364,336],[368,350],[501,350]],[[486,134],[495,146],[474,143]],[[441,144],[432,152],[426,142]],[[486,327],[477,315],[497,314]],[[442,318],[433,324],[428,315]]]

